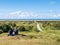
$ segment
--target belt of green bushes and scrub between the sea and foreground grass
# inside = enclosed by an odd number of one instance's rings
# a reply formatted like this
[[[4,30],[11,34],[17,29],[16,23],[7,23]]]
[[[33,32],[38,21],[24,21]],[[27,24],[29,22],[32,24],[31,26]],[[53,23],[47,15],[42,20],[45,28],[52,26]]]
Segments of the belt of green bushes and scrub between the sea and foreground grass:
[[[60,21],[37,21],[43,30],[60,30]],[[3,32],[8,32],[9,29],[17,27],[19,31],[37,31],[34,21],[1,21],[0,29]]]

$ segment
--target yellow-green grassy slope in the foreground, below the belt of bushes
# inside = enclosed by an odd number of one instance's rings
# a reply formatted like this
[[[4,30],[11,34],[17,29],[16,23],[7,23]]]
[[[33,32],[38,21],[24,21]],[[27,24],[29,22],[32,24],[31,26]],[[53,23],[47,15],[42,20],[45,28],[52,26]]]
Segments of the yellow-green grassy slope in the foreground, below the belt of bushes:
[[[60,45],[60,31],[19,32],[18,36],[11,37],[3,33],[0,34],[0,45]]]

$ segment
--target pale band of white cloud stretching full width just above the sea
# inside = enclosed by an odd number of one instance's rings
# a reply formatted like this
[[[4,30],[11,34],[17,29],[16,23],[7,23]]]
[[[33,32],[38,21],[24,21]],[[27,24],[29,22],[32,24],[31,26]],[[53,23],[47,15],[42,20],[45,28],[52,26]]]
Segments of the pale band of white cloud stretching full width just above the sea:
[[[49,10],[53,13],[53,10]],[[32,11],[15,11],[0,15],[0,19],[55,19],[59,18],[60,14],[40,13]]]

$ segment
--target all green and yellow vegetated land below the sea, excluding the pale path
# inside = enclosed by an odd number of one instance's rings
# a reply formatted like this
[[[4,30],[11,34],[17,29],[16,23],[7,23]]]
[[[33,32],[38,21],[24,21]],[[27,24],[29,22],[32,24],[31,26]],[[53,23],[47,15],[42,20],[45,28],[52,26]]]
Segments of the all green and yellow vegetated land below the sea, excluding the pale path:
[[[60,45],[60,21],[37,21],[43,32],[39,32],[34,21],[1,21],[0,45]],[[19,35],[7,36],[9,29],[17,27]]]

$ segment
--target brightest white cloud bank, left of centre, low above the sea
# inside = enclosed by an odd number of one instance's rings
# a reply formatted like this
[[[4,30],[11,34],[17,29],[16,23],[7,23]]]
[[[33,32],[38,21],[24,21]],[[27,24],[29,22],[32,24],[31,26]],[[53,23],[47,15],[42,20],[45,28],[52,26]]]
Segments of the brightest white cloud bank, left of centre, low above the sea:
[[[11,12],[7,17],[10,19],[34,19],[34,18],[40,18],[40,14],[30,11],[16,11]]]

